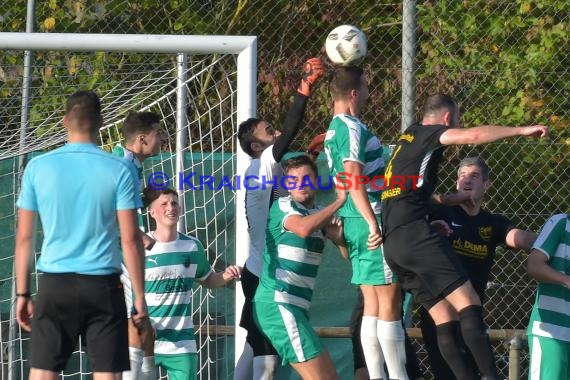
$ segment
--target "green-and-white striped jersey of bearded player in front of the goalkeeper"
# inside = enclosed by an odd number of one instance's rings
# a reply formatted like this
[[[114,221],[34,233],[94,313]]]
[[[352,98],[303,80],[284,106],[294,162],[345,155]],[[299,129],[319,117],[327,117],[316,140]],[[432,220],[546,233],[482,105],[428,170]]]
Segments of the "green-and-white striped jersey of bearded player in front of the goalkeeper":
[[[254,301],[291,304],[308,310],[324,248],[320,230],[302,238],[285,229],[291,215],[307,216],[319,208],[306,209],[290,196],[279,198],[271,206],[265,249],[263,274]]]

